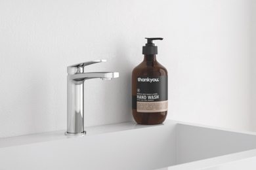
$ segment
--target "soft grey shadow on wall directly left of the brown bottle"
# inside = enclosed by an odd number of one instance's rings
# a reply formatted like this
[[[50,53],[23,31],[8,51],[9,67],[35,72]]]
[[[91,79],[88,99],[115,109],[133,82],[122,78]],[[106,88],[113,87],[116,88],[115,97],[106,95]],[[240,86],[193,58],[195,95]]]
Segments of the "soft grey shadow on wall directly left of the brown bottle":
[[[113,71],[119,72],[119,78],[116,80],[118,81],[118,87],[114,84],[108,84],[107,88],[112,90],[104,91],[104,96],[106,99],[108,96],[112,97],[104,103],[104,107],[109,108],[110,112],[116,112],[117,120],[128,122],[133,120],[131,110],[131,73],[135,65],[132,63],[133,59],[129,57],[127,49],[129,45],[123,39],[119,38],[116,41],[116,50],[111,60],[111,67],[114,68]],[[109,105],[113,107],[108,107]]]

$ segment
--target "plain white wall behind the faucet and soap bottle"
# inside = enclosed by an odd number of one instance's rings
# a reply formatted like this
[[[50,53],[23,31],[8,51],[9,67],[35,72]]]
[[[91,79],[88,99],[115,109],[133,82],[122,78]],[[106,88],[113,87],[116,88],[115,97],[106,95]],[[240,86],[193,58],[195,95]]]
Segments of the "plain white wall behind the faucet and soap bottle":
[[[85,83],[85,126],[133,120],[131,71],[144,37],[169,71],[168,118],[251,126],[251,1],[0,1],[0,137],[66,129],[66,67]]]

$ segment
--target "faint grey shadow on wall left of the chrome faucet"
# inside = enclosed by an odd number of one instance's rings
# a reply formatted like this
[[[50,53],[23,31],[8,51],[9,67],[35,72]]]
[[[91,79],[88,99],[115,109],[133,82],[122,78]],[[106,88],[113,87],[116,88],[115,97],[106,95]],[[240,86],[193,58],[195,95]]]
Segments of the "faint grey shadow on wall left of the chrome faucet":
[[[52,101],[54,101],[54,86],[51,84],[51,75],[48,71],[43,71],[44,68],[49,68],[49,62],[41,62],[36,66],[37,71],[33,74],[27,74],[26,80],[28,81],[29,93],[27,97],[30,103],[28,103],[24,113],[26,119],[22,121],[20,125],[24,131],[29,133],[43,133],[45,131],[51,131],[54,126],[54,120],[51,118],[51,113],[55,109]],[[58,97],[55,96],[56,99]],[[26,105],[26,104],[25,104]]]

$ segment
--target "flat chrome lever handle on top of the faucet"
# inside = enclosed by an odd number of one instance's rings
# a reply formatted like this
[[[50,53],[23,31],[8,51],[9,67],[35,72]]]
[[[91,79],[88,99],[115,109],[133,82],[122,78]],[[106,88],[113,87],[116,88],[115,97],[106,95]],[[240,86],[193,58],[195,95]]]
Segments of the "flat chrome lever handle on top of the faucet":
[[[91,65],[94,63],[101,63],[101,62],[105,62],[106,59],[98,59],[98,60],[94,60],[94,61],[85,61],[83,63],[77,63],[74,65],[70,65],[67,67],[67,72],[69,75],[74,75],[75,73],[83,73],[83,67],[87,66],[87,65]]]

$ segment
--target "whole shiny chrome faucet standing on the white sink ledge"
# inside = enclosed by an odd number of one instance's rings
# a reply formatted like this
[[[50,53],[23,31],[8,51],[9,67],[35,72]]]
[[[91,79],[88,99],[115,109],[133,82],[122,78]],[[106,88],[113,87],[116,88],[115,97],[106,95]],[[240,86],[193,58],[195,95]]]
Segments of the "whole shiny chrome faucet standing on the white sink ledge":
[[[84,106],[83,83],[85,80],[91,78],[102,78],[102,80],[111,80],[112,78],[119,77],[117,72],[92,72],[84,73],[84,68],[87,65],[100,63],[106,61],[105,59],[87,61],[84,63],[77,63],[70,65],[68,69],[68,127],[65,135],[85,135],[84,130]]]

